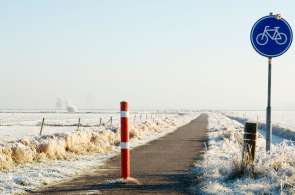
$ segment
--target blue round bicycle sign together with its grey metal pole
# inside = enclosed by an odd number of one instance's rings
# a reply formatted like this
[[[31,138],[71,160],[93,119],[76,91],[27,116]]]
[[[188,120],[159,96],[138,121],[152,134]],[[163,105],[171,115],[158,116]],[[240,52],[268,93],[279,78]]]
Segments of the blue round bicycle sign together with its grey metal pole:
[[[271,126],[271,65],[272,58],[285,53],[291,46],[293,33],[290,25],[279,14],[262,17],[251,30],[251,43],[254,49],[268,58],[268,93],[266,108],[266,151],[270,151]]]

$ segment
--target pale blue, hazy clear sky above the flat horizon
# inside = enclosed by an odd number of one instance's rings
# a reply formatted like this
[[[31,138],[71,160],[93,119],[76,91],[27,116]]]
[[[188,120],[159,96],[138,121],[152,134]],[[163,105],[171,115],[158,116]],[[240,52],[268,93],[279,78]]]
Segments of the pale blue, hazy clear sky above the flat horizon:
[[[270,11],[295,1],[0,1],[0,107],[263,109],[267,59],[252,49]],[[294,46],[274,59],[274,108],[295,108]]]

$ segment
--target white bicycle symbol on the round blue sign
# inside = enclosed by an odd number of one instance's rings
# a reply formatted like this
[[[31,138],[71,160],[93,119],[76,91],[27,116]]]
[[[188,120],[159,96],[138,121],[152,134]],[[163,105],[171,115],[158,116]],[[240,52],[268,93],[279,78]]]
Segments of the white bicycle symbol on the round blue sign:
[[[264,31],[257,35],[256,43],[258,45],[266,45],[268,40],[271,39],[278,45],[286,44],[288,41],[287,35],[279,32],[279,28],[280,27],[269,28],[269,26],[265,26]]]

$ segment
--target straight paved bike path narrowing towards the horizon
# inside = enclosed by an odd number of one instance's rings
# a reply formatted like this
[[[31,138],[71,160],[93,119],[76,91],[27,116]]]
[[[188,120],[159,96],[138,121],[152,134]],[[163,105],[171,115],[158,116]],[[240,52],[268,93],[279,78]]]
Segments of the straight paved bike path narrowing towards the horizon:
[[[187,125],[131,151],[131,176],[140,184],[113,183],[120,178],[120,156],[92,173],[32,194],[189,194],[190,172],[207,141],[208,116],[201,114]]]

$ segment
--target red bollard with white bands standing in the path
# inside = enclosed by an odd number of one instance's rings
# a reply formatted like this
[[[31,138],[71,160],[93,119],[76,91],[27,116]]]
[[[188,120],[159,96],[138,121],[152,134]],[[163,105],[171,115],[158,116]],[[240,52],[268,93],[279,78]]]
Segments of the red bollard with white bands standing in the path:
[[[130,177],[130,152],[128,130],[128,103],[122,101],[121,106],[121,176],[124,180]]]

